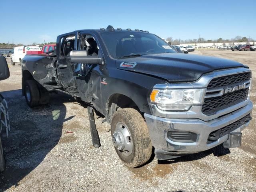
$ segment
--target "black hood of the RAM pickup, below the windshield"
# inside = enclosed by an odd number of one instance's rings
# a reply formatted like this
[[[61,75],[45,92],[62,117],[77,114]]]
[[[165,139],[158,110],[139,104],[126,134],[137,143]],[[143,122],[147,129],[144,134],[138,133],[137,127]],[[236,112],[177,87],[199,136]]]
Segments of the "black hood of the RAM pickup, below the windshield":
[[[120,66],[122,62],[136,62],[132,67]],[[149,54],[116,60],[116,67],[163,78],[169,82],[192,82],[202,74],[225,68],[245,67],[228,59],[194,54]]]

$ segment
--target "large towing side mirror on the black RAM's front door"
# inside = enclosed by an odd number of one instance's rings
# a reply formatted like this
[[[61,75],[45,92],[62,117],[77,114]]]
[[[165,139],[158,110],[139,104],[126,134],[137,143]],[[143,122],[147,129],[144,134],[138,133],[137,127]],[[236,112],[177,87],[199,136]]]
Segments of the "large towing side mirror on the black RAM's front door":
[[[98,56],[88,56],[87,50],[74,50],[69,53],[71,63],[86,63],[103,65],[102,58]]]

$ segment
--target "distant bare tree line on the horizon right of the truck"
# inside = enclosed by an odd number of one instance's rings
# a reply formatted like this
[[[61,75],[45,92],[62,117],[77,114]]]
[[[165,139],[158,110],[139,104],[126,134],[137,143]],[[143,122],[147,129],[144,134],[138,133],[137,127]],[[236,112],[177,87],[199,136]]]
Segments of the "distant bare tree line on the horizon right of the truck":
[[[198,39],[173,39],[172,37],[166,38],[167,42],[171,42],[173,45],[178,45],[181,43],[234,43],[234,42],[254,42],[255,40],[252,38],[242,37],[242,36],[236,36],[235,38],[231,39],[224,39],[224,38],[218,38],[215,40],[205,38],[198,38]]]

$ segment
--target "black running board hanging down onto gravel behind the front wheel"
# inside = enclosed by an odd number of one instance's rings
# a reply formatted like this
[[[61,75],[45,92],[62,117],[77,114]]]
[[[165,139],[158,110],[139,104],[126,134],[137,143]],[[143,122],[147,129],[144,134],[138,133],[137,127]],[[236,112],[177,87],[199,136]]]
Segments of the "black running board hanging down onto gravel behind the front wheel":
[[[87,106],[87,110],[88,110],[88,115],[89,115],[89,119],[90,119],[92,145],[96,148],[99,148],[100,147],[100,138],[99,138],[98,131],[96,129],[93,108],[91,106]]]

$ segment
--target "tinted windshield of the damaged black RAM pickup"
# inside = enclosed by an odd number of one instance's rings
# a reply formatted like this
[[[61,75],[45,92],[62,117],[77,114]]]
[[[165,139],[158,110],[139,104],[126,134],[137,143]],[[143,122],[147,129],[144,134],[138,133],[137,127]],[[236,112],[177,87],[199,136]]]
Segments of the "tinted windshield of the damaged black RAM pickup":
[[[102,32],[101,36],[113,58],[157,53],[176,53],[154,34],[140,32]]]

